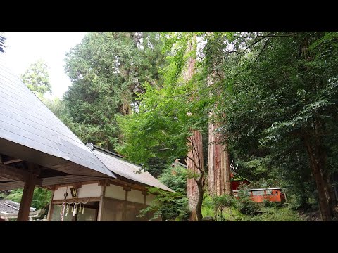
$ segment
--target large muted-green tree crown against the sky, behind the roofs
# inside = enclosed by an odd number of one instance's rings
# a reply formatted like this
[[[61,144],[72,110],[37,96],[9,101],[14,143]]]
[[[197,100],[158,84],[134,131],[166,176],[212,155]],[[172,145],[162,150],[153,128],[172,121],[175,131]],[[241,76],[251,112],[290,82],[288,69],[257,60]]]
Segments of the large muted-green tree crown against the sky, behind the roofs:
[[[115,149],[122,138],[116,118],[137,110],[143,82],[158,82],[164,64],[158,33],[89,32],[65,61],[73,82],[64,96],[70,129],[84,143]]]

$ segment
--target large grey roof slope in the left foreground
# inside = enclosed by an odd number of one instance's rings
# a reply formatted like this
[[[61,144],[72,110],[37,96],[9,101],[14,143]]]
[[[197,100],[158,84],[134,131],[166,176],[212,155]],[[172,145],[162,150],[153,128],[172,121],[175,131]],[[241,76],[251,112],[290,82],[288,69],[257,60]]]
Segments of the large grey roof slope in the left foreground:
[[[0,54],[0,140],[24,145],[75,164],[114,174],[42,103]]]

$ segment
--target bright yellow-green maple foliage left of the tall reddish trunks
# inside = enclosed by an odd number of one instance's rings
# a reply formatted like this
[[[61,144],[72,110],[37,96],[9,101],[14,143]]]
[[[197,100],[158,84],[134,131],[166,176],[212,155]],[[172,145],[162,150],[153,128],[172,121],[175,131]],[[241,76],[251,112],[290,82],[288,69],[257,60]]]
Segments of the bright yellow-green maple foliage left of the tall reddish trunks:
[[[173,89],[156,89],[144,84],[139,112],[118,117],[124,143],[117,150],[127,159],[147,166],[154,157],[169,164],[186,153],[186,111]]]

